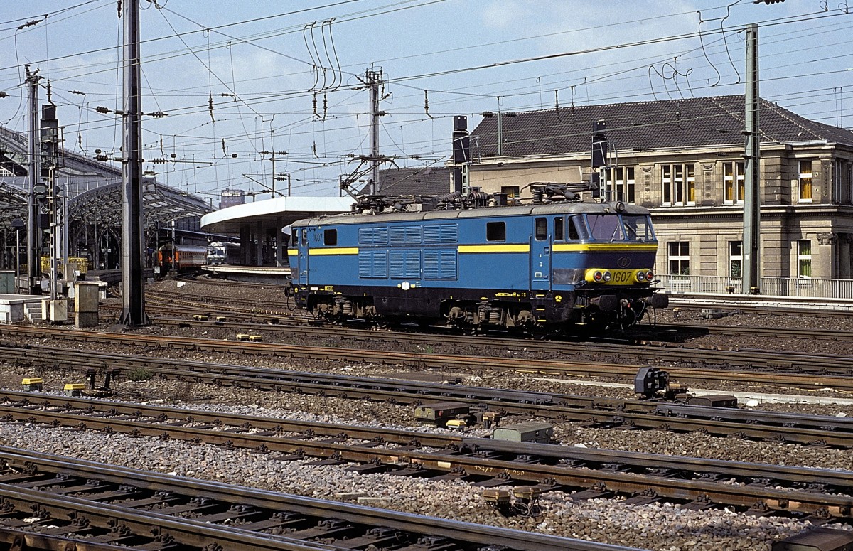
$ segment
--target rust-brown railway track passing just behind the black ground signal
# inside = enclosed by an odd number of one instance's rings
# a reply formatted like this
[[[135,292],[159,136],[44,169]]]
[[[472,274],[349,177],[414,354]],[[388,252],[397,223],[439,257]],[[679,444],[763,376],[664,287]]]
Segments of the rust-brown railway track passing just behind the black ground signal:
[[[275,328],[276,326],[270,326]],[[338,328],[333,328],[339,332]],[[366,332],[365,340],[374,343],[377,333]],[[171,348],[189,351],[218,353],[251,354],[282,358],[322,359],[342,362],[368,362],[390,365],[404,365],[418,369],[470,370],[493,369],[510,370],[537,374],[559,374],[572,376],[602,376],[633,382],[637,369],[647,363],[683,364],[687,352],[694,367],[667,368],[670,375],[681,381],[738,381],[741,384],[766,386],[793,386],[798,388],[834,388],[841,391],[853,391],[853,358],[835,355],[798,354],[795,352],[773,352],[757,350],[717,351],[701,348],[651,348],[640,346],[595,345],[566,343],[541,343],[537,348],[540,357],[574,357],[602,355],[610,357],[613,363],[588,363],[561,359],[476,357],[452,354],[432,354],[428,352],[380,351],[373,349],[342,349],[336,347],[282,345],[273,343],[243,342],[219,339],[199,339],[191,337],[166,337],[158,335],[152,338],[146,334],[113,334],[97,331],[67,330],[61,328],[43,328],[34,326],[6,326],[0,328],[0,335],[17,338],[57,339],[74,342],[96,342],[102,345],[131,345],[143,348]],[[369,335],[369,336],[368,336]],[[406,334],[392,334],[395,341]],[[424,345],[431,342],[425,335],[409,335],[413,342]],[[446,338],[435,336],[434,342],[447,344]],[[508,339],[475,339],[480,345],[497,345],[497,350],[523,347],[524,342]],[[455,341],[453,345],[462,345],[464,341]],[[708,368],[708,365],[722,365],[723,368]],[[735,369],[731,366],[748,366],[750,369]],[[697,368],[698,367],[698,368]]]

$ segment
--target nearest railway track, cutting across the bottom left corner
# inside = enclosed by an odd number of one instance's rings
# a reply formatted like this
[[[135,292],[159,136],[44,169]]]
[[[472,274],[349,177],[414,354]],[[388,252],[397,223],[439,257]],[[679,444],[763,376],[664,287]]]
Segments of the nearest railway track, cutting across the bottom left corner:
[[[11,548],[629,551],[5,447],[0,461]]]

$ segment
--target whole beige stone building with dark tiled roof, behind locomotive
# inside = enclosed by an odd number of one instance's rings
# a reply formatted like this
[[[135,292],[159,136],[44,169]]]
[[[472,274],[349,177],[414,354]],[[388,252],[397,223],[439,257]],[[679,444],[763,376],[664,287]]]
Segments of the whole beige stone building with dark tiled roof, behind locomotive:
[[[732,284],[742,268],[744,106],[744,96],[718,96],[487,113],[471,133],[468,183],[527,200],[531,183],[589,181],[603,120],[608,188],[651,209],[656,271]],[[853,131],[763,100],[759,125],[762,275],[850,279]]]

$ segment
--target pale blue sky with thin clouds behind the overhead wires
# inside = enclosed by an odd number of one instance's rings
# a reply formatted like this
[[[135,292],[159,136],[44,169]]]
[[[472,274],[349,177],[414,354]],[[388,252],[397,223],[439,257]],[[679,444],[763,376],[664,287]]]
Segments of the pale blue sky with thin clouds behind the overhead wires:
[[[272,151],[279,193],[339,194],[369,153],[368,70],[383,167],[441,166],[454,115],[743,94],[751,23],[761,96],[853,127],[850,0],[140,1],[142,111],[166,113],[143,119],[143,170],[213,205],[269,198]],[[0,125],[26,130],[29,65],[67,149],[120,155],[120,117],[96,111],[121,108],[119,2],[2,3]]]

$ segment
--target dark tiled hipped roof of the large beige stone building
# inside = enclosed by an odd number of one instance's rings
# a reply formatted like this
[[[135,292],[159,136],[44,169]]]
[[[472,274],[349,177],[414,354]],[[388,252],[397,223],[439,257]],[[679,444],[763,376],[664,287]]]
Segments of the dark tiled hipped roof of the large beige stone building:
[[[589,152],[593,123],[604,120],[619,151],[743,144],[744,96],[698,97],[660,102],[582,105],[502,113],[501,156]],[[826,140],[853,146],[853,131],[824,125],[761,100],[761,142]],[[472,132],[481,157],[497,156],[497,115]],[[478,148],[472,139],[473,156]]]

